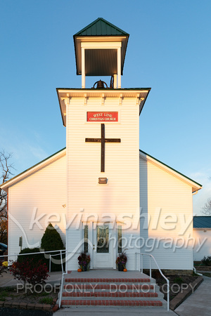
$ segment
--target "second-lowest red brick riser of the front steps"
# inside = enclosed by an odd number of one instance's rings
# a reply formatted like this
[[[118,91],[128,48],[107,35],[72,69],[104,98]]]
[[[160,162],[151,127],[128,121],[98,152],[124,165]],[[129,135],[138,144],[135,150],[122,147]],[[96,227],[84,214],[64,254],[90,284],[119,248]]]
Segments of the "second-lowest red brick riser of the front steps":
[[[121,293],[121,292],[63,292],[63,297],[158,297],[158,293],[153,293],[153,292],[126,292],[126,293]]]

